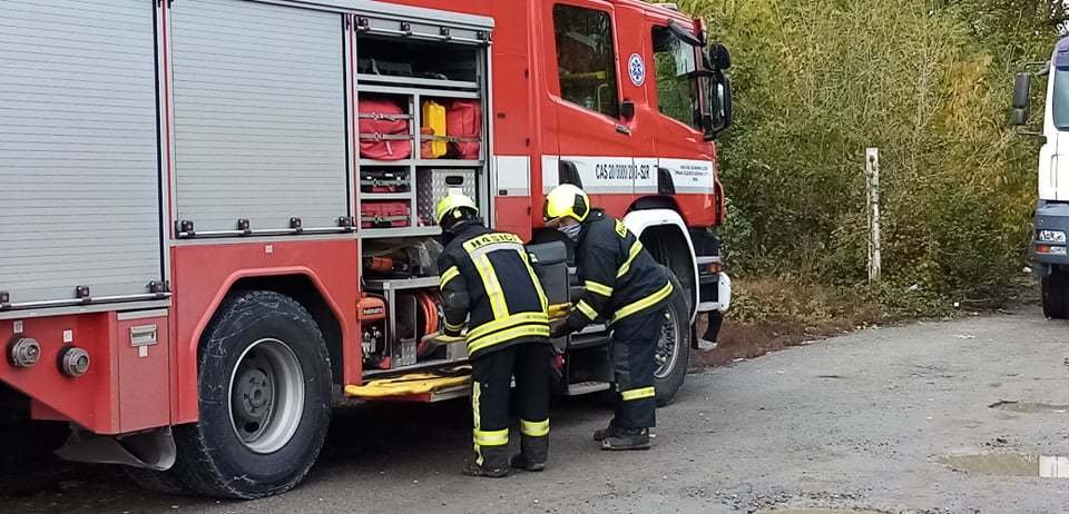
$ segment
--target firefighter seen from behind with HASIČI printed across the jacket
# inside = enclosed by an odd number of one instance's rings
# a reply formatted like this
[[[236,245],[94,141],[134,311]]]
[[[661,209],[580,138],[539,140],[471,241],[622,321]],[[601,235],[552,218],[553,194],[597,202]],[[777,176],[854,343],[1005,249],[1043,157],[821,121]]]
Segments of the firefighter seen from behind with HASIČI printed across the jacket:
[[[474,201],[452,192],[435,209],[444,250],[445,336],[467,327],[472,363],[474,458],[463,473],[501,477],[542,471],[549,457],[550,359],[546,294],[519,237],[488,229]],[[467,323],[465,323],[467,322]],[[520,453],[509,461],[509,397],[519,396]]]

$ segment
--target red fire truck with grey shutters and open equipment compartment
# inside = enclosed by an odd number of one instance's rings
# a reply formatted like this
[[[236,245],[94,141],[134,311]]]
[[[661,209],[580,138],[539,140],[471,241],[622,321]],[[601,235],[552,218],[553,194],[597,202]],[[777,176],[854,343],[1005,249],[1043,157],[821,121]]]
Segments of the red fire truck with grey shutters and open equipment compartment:
[[[477,198],[567,303],[541,223],[563,182],[681,285],[666,403],[697,314],[713,340],[730,299],[728,67],[699,20],[638,0],[7,0],[2,406],[148,486],[286,491],[350,386],[464,363],[428,338],[437,199]],[[611,387],[608,340],[555,342],[560,394]]]

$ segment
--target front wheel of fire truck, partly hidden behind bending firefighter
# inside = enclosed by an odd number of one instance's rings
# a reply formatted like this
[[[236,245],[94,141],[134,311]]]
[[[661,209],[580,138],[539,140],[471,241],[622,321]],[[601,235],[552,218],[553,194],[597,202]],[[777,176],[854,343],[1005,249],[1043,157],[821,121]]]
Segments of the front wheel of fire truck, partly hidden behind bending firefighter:
[[[694,337],[694,329],[690,326],[689,303],[685,289],[675,274],[668,271],[668,276],[675,291],[671,294],[668,309],[665,312],[665,335],[661,345],[669,343],[668,339],[670,338],[675,355],[673,356],[669,353],[664,364],[661,360],[657,363],[654,386],[657,388],[658,407],[670,404],[676,397],[676,393],[683,387],[683,382],[687,378],[687,368],[690,367],[690,344]],[[665,348],[661,345],[658,345],[658,359],[665,357]]]

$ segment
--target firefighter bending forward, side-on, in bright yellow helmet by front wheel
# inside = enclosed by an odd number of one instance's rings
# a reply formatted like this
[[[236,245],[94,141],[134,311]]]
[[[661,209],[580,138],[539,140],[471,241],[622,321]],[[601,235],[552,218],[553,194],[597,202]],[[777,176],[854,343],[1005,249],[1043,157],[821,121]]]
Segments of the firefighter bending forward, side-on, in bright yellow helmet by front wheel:
[[[612,366],[619,392],[616,415],[594,434],[601,449],[648,449],[657,401],[654,358],[665,323],[668,270],[643,249],[620,220],[590,208],[587,194],[561,185],[546,197],[546,224],[575,243],[585,291],[551,337],[563,337],[598,318],[612,328]]]

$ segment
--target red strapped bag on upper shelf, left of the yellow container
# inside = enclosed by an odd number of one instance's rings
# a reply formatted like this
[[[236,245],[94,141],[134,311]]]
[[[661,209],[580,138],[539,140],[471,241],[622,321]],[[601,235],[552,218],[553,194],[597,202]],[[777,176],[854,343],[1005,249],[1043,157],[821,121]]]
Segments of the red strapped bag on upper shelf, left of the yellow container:
[[[360,117],[360,156],[367,159],[401,160],[412,155],[412,118],[396,102],[386,98],[361,98],[356,105]]]

